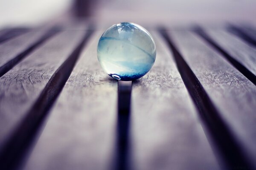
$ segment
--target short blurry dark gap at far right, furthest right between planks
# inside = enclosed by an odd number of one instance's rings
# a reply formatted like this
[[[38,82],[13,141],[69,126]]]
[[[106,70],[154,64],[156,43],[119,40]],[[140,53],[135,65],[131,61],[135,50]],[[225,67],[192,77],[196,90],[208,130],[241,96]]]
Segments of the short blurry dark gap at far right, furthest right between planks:
[[[227,30],[230,31],[232,34],[238,36],[242,40],[248,42],[250,45],[256,47],[256,40],[253,37],[250,37],[249,34],[247,34],[244,30],[240,29],[239,27],[229,24]]]

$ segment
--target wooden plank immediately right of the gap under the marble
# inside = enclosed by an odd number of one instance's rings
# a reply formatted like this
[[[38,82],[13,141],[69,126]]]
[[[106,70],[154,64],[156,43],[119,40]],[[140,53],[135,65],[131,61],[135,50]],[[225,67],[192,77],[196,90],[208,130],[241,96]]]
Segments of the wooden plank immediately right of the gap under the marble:
[[[219,169],[170,50],[160,35],[153,36],[156,62],[133,83],[131,168]]]

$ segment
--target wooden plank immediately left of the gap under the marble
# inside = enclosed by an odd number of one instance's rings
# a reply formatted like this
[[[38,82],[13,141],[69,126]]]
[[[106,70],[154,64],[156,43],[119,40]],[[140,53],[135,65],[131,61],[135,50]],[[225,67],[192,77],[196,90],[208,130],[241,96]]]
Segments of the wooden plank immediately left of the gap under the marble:
[[[88,42],[49,115],[25,170],[105,170],[116,135],[117,81],[100,67],[96,46]]]

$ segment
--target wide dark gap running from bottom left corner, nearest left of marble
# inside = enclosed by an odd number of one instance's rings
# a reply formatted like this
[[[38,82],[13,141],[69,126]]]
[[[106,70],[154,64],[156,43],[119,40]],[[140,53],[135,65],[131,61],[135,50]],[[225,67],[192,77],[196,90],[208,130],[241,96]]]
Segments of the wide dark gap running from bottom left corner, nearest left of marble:
[[[26,117],[17,125],[15,132],[0,151],[0,169],[14,170],[22,161],[33,139],[44,122],[49,109],[61,93],[73,67],[93,31],[87,31],[83,40],[66,61],[55,71]]]

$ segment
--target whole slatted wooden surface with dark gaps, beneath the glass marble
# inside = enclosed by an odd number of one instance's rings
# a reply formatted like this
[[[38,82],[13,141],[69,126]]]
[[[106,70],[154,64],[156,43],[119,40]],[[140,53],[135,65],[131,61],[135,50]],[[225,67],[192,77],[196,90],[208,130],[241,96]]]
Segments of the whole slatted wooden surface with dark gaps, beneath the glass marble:
[[[90,23],[0,32],[0,170],[256,169],[256,29],[150,28],[134,82]]]

